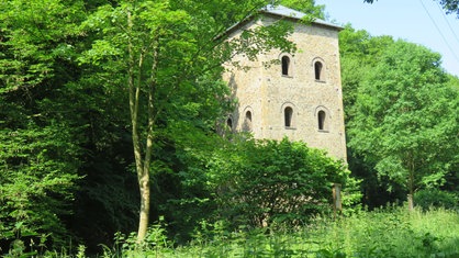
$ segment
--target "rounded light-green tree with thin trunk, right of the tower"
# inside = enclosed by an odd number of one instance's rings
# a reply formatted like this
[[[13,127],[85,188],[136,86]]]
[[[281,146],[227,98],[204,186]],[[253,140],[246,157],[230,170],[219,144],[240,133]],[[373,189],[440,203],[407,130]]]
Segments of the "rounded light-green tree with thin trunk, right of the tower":
[[[441,186],[457,159],[458,94],[439,60],[415,44],[389,46],[361,82],[348,125],[349,146],[410,197]]]

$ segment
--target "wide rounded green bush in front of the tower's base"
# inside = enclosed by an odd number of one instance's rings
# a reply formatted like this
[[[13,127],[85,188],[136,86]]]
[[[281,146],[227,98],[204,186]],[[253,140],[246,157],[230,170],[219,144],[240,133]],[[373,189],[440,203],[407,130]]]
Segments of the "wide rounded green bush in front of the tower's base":
[[[287,138],[236,141],[208,166],[220,215],[234,226],[305,223],[329,211],[334,182],[351,181],[340,161]]]

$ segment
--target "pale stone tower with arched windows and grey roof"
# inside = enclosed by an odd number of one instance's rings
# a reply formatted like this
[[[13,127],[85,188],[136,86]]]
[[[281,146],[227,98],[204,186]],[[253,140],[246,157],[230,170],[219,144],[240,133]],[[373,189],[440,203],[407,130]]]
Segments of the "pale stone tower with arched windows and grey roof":
[[[233,89],[237,108],[227,120],[232,131],[251,132],[255,138],[303,141],[346,160],[346,138],[340,82],[338,32],[322,20],[300,22],[305,14],[282,5],[268,5],[261,18],[231,31],[271,24],[280,19],[294,23],[289,40],[296,53],[271,51],[257,61],[235,57],[249,70],[231,69],[224,79]],[[279,65],[264,66],[278,59]]]

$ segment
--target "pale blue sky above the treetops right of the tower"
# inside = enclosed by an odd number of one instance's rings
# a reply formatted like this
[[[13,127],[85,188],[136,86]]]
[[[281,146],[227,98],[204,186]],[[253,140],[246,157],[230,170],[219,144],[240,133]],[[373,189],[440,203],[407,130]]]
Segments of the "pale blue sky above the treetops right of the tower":
[[[327,21],[350,23],[372,36],[390,35],[441,54],[443,67],[459,76],[459,19],[434,0],[315,0],[325,5]]]

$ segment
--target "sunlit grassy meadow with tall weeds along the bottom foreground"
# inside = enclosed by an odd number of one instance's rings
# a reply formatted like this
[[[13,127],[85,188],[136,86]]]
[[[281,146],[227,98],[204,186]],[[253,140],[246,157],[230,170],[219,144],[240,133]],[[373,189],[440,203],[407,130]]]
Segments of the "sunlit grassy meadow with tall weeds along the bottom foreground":
[[[103,257],[459,257],[457,211],[387,207],[314,223],[294,231],[226,232],[215,225],[187,246],[173,246],[157,226],[143,247],[130,238]],[[122,237],[121,237],[122,238]],[[132,238],[135,239],[135,238]],[[122,243],[123,242],[123,243]]]

